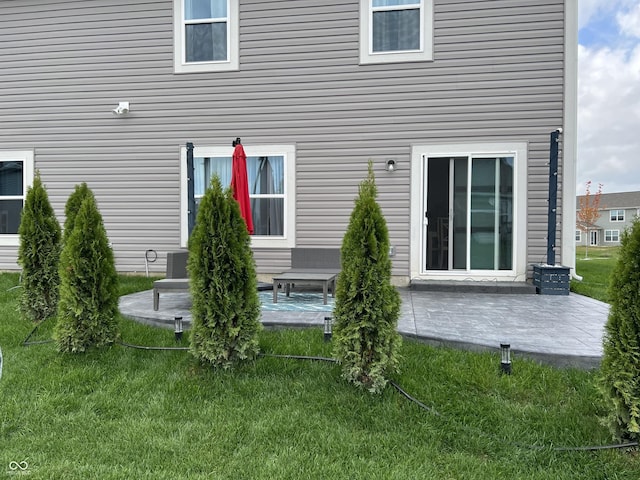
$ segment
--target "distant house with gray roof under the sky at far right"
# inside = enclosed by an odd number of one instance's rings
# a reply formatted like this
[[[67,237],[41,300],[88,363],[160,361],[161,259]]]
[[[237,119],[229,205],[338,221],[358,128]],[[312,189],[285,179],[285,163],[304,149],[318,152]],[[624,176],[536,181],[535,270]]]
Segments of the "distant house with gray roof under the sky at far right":
[[[584,195],[577,198],[578,210],[583,198]],[[622,232],[640,215],[640,192],[603,193],[600,195],[599,212],[600,217],[588,228],[580,222],[576,223],[576,245],[620,245]]]

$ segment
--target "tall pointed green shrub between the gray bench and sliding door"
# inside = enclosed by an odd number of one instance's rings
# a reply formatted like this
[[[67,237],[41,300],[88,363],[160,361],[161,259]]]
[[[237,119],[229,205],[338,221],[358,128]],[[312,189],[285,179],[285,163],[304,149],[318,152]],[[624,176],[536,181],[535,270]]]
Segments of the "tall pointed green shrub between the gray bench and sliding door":
[[[373,165],[360,184],[342,242],[334,308],[334,356],[349,382],[377,393],[398,369],[400,295],[391,285],[389,233]]]

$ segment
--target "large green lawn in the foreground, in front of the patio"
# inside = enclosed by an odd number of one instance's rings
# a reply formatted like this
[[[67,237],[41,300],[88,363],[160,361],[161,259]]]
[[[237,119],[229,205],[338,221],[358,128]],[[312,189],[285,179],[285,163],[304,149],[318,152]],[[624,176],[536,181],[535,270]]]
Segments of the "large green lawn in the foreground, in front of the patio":
[[[640,455],[554,451],[609,443],[596,372],[405,340],[396,380],[372,396],[321,361],[263,357],[235,371],[184,351],[115,345],[63,355],[21,346],[17,275],[0,274],[0,477],[30,479],[637,479]],[[122,277],[121,290],[150,288]],[[169,330],[121,319],[124,341],[175,346]],[[35,340],[47,339],[43,324]],[[330,356],[320,329],[271,330],[270,354]],[[183,341],[186,346],[186,339]],[[437,413],[436,413],[437,412]],[[529,446],[540,448],[531,448]],[[19,477],[18,477],[19,478]]]

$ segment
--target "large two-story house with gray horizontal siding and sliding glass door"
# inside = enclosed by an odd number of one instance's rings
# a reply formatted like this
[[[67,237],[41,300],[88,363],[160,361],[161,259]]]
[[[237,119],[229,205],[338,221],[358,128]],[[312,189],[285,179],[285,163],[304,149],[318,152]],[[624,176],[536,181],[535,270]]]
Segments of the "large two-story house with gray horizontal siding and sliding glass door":
[[[120,271],[153,249],[164,272],[187,244],[187,142],[199,198],[241,137],[261,276],[341,245],[371,160],[396,283],[525,280],[560,127],[574,267],[576,0],[4,1],[0,39],[0,269],[37,169],[61,222],[93,189]]]

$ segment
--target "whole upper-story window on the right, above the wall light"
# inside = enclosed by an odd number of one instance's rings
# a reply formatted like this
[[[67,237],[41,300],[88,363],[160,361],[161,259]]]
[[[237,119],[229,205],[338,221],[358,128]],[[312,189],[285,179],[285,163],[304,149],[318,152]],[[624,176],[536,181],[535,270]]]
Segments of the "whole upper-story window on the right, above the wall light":
[[[360,63],[433,60],[433,0],[360,0]]]

